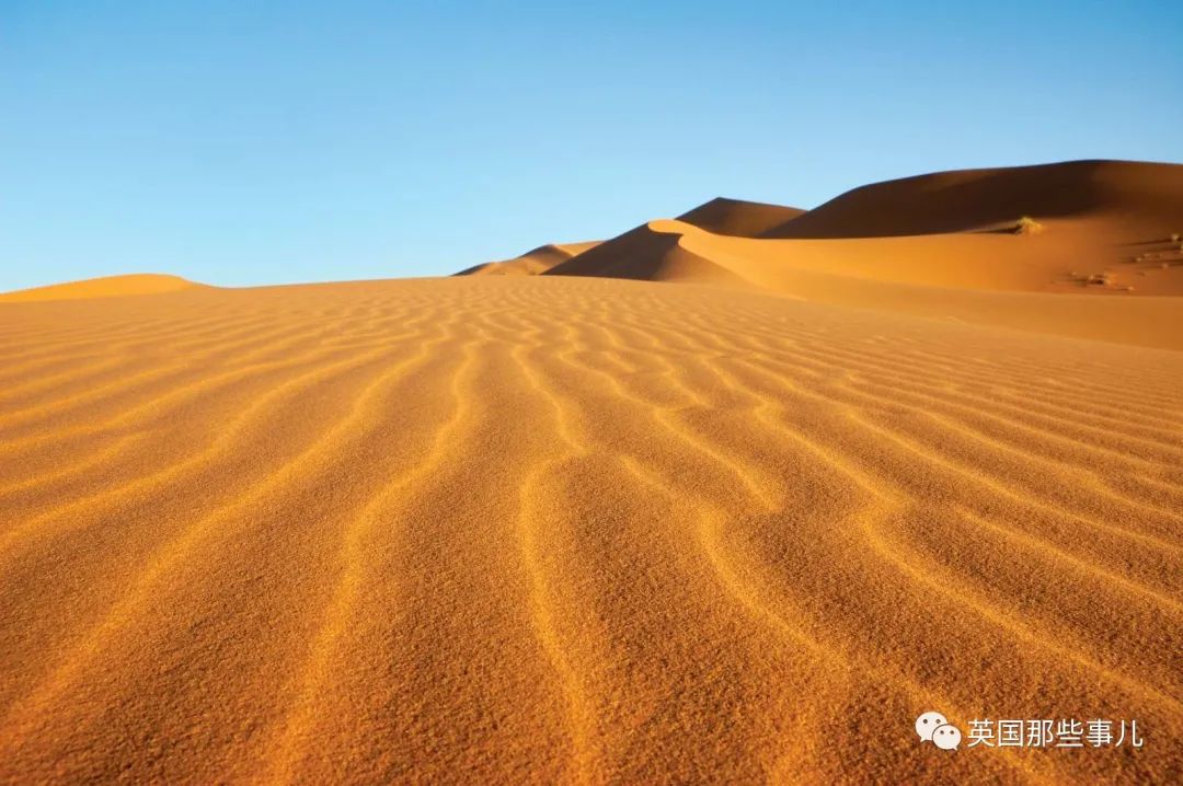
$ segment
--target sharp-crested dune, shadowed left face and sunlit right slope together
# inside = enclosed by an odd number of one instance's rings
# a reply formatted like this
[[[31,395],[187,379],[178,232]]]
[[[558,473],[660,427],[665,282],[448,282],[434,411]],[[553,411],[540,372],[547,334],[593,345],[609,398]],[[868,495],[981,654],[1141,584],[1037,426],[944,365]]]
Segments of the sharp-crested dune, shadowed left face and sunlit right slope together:
[[[1065,337],[1183,349],[1183,255],[1149,280],[1157,297],[1055,279],[1029,238],[938,235],[750,240],[651,221],[548,275],[761,288],[829,305],[901,312]],[[1143,281],[1144,279],[1138,279]],[[1143,285],[1144,290],[1151,286]],[[1127,297],[1121,297],[1127,295]]]

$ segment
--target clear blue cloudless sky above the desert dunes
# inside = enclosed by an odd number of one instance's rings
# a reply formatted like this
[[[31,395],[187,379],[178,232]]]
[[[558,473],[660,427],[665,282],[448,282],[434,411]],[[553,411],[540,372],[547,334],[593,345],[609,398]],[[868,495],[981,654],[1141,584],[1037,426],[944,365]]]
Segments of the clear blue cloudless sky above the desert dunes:
[[[1183,161],[1178,0],[567,5],[0,0],[0,290],[433,275],[720,194]]]

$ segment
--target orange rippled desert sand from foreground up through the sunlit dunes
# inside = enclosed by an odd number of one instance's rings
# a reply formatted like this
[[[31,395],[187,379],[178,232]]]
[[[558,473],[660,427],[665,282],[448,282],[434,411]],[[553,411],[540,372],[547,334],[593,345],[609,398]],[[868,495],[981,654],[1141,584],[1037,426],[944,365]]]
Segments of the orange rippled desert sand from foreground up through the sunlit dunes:
[[[0,781],[1177,782],[1183,262],[1124,243],[1183,168],[1140,167],[898,236],[729,202],[543,275],[0,304]]]

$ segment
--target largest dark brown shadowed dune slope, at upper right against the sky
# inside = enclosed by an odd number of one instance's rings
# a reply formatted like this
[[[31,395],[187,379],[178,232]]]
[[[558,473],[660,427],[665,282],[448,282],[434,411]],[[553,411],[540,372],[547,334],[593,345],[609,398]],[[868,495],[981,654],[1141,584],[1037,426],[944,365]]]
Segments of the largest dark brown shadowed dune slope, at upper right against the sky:
[[[1069,161],[964,169],[855,188],[765,233],[881,238],[1013,227],[1036,219],[1110,219],[1149,240],[1183,227],[1183,165]],[[1150,236],[1142,238],[1148,234]]]

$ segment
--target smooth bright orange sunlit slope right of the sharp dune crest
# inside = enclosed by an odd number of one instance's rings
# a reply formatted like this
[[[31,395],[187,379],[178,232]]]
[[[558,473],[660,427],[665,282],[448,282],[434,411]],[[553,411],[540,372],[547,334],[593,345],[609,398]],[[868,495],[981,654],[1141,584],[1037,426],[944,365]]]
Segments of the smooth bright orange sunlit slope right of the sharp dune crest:
[[[1040,286],[1052,275],[1046,259],[1008,259],[1010,249],[995,245],[1026,238],[963,238],[745,241],[686,232],[678,247],[748,286],[816,303],[1183,349],[1183,262],[1136,279],[1143,291],[1133,297],[1120,278],[1100,287]],[[1156,292],[1163,294],[1145,297]]]

